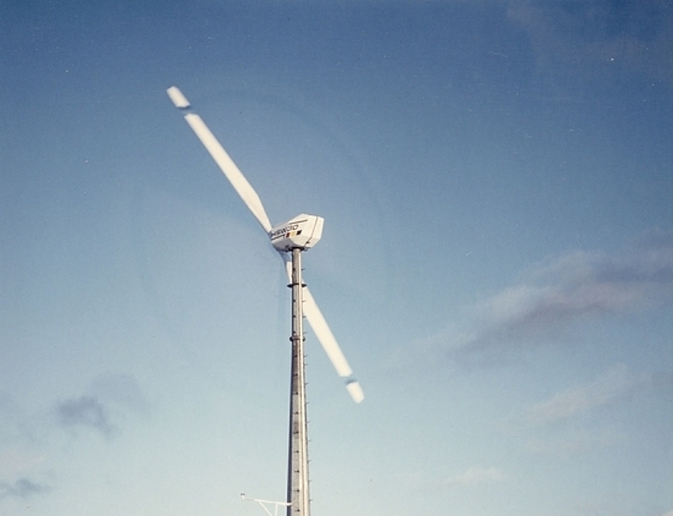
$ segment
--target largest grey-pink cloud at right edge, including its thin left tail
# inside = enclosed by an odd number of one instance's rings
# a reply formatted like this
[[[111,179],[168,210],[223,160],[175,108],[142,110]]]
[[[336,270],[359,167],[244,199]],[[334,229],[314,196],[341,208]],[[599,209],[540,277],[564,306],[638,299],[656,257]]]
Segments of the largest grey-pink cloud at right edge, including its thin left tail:
[[[416,350],[488,361],[512,346],[548,342],[578,321],[645,310],[673,298],[673,236],[648,235],[611,256],[576,250],[549,258],[476,304],[471,322],[415,343]]]

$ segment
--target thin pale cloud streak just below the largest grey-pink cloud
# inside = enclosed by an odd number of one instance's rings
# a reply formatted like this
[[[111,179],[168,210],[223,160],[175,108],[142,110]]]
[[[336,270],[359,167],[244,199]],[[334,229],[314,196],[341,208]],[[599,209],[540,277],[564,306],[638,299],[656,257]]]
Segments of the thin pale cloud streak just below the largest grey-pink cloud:
[[[626,366],[620,364],[589,383],[564,390],[542,403],[532,405],[524,419],[538,425],[569,420],[585,412],[618,403],[650,381],[649,375],[631,374]]]

